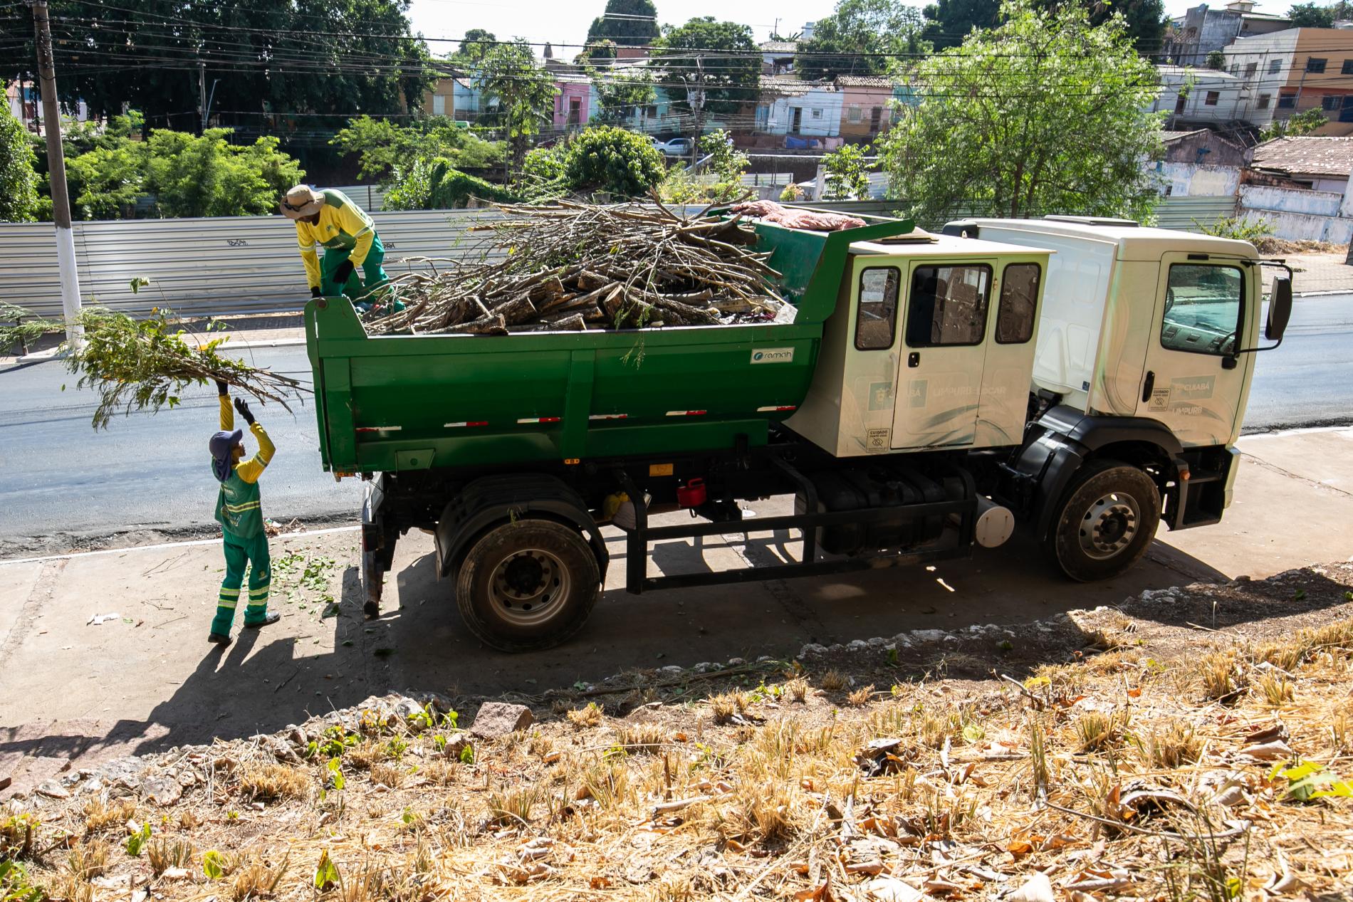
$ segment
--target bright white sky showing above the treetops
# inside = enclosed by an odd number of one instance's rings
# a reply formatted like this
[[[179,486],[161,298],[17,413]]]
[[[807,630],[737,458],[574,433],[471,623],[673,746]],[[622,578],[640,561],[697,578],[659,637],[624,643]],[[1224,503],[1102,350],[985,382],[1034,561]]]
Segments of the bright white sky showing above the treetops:
[[[1165,11],[1183,15],[1203,0],[1165,0]],[[764,41],[779,20],[782,34],[800,31],[805,22],[831,14],[833,0],[656,0],[658,19],[679,24],[691,16],[716,16],[751,26]],[[1220,8],[1226,0],[1210,0]],[[925,3],[917,1],[923,7]],[[1256,12],[1287,12],[1291,1],[1260,3]],[[606,0],[413,0],[410,18],[415,31],[428,38],[460,38],[468,28],[486,28],[499,39],[549,41],[556,55],[572,57],[587,37],[587,26],[606,8]],[[455,43],[433,42],[436,54],[455,50]]]

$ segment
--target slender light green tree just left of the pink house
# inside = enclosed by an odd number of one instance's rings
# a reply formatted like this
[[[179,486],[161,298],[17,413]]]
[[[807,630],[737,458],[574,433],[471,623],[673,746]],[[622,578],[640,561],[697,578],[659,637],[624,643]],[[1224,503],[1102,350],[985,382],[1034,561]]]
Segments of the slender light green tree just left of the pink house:
[[[475,66],[474,80],[484,108],[507,130],[510,168],[520,168],[532,137],[553,119],[559,89],[521,38],[486,53]]]

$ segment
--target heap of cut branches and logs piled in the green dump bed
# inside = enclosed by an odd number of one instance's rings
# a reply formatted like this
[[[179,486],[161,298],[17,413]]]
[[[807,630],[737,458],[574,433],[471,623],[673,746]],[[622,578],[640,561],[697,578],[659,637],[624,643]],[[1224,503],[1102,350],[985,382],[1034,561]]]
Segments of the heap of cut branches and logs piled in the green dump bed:
[[[405,310],[369,321],[368,333],[716,326],[792,312],[741,216],[570,201],[498,210],[503,219],[478,229],[505,256],[398,276]]]

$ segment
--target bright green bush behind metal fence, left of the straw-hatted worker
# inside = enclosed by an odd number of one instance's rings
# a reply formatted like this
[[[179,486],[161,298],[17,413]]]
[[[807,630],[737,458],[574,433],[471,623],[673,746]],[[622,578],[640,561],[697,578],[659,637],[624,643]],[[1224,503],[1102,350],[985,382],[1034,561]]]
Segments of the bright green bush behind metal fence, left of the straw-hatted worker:
[[[276,138],[226,143],[227,128],[198,137],[157,128],[150,133],[145,187],[162,216],[257,216],[277,208],[277,197],[304,177]]]

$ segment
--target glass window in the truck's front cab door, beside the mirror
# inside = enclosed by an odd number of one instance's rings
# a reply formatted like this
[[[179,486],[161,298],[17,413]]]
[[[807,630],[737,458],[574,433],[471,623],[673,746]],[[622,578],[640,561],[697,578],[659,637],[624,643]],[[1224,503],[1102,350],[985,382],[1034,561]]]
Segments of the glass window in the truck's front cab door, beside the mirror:
[[[1237,266],[1173,264],[1165,288],[1161,346],[1196,354],[1235,353],[1245,276]]]

